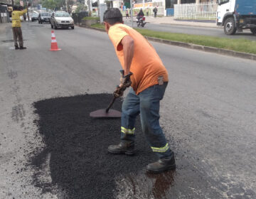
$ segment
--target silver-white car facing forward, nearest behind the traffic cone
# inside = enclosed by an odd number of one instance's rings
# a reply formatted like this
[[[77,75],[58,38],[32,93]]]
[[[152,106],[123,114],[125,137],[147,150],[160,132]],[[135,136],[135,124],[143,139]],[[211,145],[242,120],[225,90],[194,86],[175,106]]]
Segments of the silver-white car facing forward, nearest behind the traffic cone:
[[[65,11],[54,12],[52,16],[50,16],[50,26],[55,29],[69,27],[72,29],[75,28],[73,18]]]

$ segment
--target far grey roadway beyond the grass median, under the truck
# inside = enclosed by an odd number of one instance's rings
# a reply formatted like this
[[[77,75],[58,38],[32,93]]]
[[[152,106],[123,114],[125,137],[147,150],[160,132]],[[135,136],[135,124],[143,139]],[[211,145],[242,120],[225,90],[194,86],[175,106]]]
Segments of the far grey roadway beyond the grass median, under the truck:
[[[125,21],[129,26],[132,26],[131,21]],[[134,27],[137,27],[137,23],[134,22]],[[139,27],[142,28],[142,27]],[[156,23],[146,23],[144,28],[152,31],[163,31],[170,33],[184,33],[199,36],[214,36],[220,38],[245,38],[249,40],[256,40],[256,36],[252,35],[250,30],[244,30],[242,33],[236,33],[233,36],[225,35],[223,28],[204,28],[204,27],[194,27],[194,26],[179,26],[172,24],[156,24]]]

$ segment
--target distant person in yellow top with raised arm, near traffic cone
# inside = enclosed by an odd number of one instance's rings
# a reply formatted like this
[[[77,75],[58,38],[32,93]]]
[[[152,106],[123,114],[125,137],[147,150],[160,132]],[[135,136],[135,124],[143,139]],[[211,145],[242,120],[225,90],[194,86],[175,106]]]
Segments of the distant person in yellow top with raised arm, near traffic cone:
[[[30,4],[28,4],[28,7],[29,6]],[[15,50],[26,49],[26,47],[23,46],[23,37],[22,37],[22,31],[21,31],[21,16],[23,16],[23,14],[26,14],[26,12],[27,12],[27,9],[23,9],[23,11],[21,11],[21,9],[19,9],[18,6],[14,6],[14,11],[12,11],[11,13]],[[18,47],[18,43],[19,43],[19,47]]]

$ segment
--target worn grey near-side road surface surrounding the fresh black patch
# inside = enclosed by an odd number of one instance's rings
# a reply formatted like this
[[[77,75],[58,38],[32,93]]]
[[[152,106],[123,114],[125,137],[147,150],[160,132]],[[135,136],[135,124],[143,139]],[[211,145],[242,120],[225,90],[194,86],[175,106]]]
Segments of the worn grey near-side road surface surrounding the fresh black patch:
[[[30,183],[33,168],[25,166],[29,152],[43,147],[31,104],[111,93],[119,77],[119,61],[106,33],[78,27],[56,30],[62,50],[50,52],[50,26],[32,24],[23,23],[27,50],[14,50],[12,43],[0,46],[0,198],[41,197],[40,188]],[[0,37],[11,39],[10,27]],[[117,176],[116,198],[255,198],[255,62],[153,45],[170,75],[161,125],[178,168],[160,176],[143,171]],[[42,169],[42,182],[51,183],[48,158]],[[52,188],[44,198],[65,195],[58,185]]]

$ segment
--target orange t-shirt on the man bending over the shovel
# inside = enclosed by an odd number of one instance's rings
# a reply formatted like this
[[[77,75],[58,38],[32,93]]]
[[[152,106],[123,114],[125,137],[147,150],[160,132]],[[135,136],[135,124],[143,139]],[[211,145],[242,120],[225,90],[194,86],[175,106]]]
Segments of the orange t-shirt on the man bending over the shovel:
[[[157,85],[159,83],[158,77],[160,76],[164,77],[164,82],[168,82],[168,72],[164,64],[161,62],[156,50],[154,50],[153,46],[144,36],[122,23],[111,26],[108,35],[114,45],[122,68],[124,68],[122,38],[124,36],[131,36],[134,40],[134,57],[130,71],[133,73],[131,76],[132,88],[137,95],[146,88]]]

